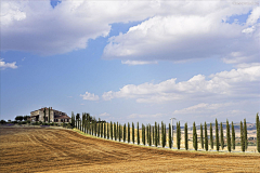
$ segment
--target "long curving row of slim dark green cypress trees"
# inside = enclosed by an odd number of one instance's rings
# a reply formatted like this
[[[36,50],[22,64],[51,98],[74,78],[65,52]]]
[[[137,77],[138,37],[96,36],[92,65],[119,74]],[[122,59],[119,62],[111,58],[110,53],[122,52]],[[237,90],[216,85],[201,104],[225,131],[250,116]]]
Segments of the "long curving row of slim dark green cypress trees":
[[[50,112],[50,111],[49,111]],[[259,116],[257,114],[256,118],[257,122],[257,150],[260,152],[260,121]],[[121,125],[120,123],[112,122],[106,123],[99,119],[96,121],[95,119],[91,118],[89,114],[82,114],[82,119],[80,119],[80,115],[77,114],[76,116],[72,115],[72,124],[74,128],[79,129],[83,133],[88,133],[90,135],[94,135],[98,137],[104,137],[107,139],[115,139],[119,142],[128,142],[130,141],[138,145],[148,145],[148,146],[159,146],[166,147],[167,143],[167,134],[166,134],[166,124],[161,121],[161,128],[159,127],[159,123],[155,122],[155,125],[152,127],[151,124],[142,124],[141,128],[141,134],[142,138],[140,137],[140,131],[139,131],[139,122],[136,123],[136,133],[134,130],[134,123],[132,122],[132,127],[130,127],[130,123]],[[220,132],[219,132],[219,125],[220,125]],[[131,129],[131,132],[130,132]],[[224,147],[227,147],[227,150],[235,150],[236,144],[235,144],[235,129],[234,123],[232,121],[231,127],[229,123],[229,120],[226,120],[226,134],[224,138],[223,133],[223,124],[222,122],[219,124],[218,120],[216,119],[214,123],[214,138],[213,138],[213,124],[210,123],[209,127],[209,142],[208,142],[208,132],[207,132],[207,123],[203,125],[200,123],[200,146],[203,149],[208,151],[208,147],[210,146],[211,150],[216,146],[216,150],[219,151],[220,147],[224,149]],[[187,123],[184,124],[184,145],[185,149],[188,149],[188,133],[187,133]],[[219,134],[220,133],[220,134]],[[130,137],[131,136],[131,137]],[[136,138],[136,141],[135,141]],[[168,131],[168,146],[169,148],[172,148],[172,136],[171,136],[171,124],[169,123],[169,131]],[[226,142],[225,142],[226,141]],[[177,122],[177,148],[181,148],[181,125],[180,121]],[[226,145],[225,145],[226,144]],[[240,121],[240,147],[242,151],[247,150],[248,148],[248,141],[247,141],[247,125],[246,125],[246,119],[244,119],[244,124]],[[198,139],[197,139],[197,129],[196,123],[193,123],[193,148],[195,150],[198,149]]]

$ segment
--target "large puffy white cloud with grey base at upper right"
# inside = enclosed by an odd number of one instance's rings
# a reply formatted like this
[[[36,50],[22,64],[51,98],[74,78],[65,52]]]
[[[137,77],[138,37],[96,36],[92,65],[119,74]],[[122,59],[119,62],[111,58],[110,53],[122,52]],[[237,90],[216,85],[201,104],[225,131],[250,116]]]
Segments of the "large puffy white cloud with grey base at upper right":
[[[259,26],[225,23],[232,15],[248,13],[250,8],[234,6],[229,2],[182,4],[181,10],[173,6],[172,11],[177,10],[174,13],[155,15],[131,27],[127,34],[112,37],[103,57],[173,62],[218,57],[225,63],[259,62]],[[206,4],[212,8],[208,8],[211,11],[203,9]],[[256,9],[248,24],[256,23]],[[239,56],[232,56],[233,52],[239,52]]]

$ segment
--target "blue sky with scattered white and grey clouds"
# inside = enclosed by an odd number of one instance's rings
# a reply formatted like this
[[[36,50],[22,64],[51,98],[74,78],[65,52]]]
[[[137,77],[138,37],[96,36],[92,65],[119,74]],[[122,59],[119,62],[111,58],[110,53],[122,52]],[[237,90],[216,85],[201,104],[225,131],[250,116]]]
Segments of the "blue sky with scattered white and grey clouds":
[[[0,3],[0,119],[52,107],[192,125],[260,110],[259,1]]]

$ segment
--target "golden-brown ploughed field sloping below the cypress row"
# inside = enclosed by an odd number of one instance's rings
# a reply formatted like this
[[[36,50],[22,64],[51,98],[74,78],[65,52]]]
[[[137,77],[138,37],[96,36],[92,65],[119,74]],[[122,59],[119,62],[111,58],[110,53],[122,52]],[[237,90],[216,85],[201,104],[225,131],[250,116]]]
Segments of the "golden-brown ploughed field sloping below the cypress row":
[[[70,130],[0,128],[0,172],[260,172],[260,155],[178,151]]]

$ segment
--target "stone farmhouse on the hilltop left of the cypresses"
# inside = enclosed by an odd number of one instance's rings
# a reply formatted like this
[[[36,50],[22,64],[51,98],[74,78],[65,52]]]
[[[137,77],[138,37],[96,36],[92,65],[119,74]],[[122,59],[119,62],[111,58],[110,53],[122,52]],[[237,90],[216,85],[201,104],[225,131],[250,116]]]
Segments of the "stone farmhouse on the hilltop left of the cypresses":
[[[44,121],[44,110],[46,110],[46,121]],[[49,108],[40,108],[35,111],[30,111],[30,121],[41,121],[41,122],[49,122]],[[72,118],[67,116],[66,112],[62,112],[58,110],[50,108],[50,122],[56,122],[56,123],[68,123],[70,122]]]

